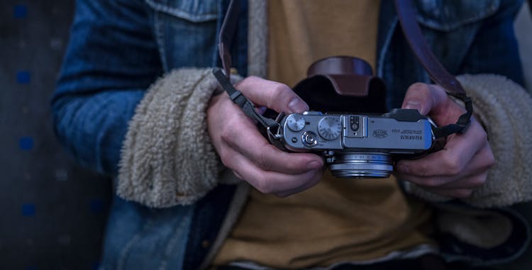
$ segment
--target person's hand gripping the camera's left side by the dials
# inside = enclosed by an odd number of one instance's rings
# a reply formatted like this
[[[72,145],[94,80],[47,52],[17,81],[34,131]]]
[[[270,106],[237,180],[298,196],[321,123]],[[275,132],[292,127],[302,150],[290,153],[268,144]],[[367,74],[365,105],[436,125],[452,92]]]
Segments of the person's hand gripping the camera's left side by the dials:
[[[292,89],[275,81],[248,77],[235,88],[255,105],[277,112],[301,113],[309,109]],[[321,157],[283,152],[271,145],[226,93],[211,99],[207,124],[223,164],[262,193],[289,196],[309,189],[321,179]]]

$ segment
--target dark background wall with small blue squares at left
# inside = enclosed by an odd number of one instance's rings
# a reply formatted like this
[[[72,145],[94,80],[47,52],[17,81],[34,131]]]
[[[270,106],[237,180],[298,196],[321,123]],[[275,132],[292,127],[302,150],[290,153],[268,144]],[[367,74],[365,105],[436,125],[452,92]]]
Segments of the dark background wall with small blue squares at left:
[[[110,181],[55,140],[50,96],[73,0],[0,1],[0,269],[96,269]]]

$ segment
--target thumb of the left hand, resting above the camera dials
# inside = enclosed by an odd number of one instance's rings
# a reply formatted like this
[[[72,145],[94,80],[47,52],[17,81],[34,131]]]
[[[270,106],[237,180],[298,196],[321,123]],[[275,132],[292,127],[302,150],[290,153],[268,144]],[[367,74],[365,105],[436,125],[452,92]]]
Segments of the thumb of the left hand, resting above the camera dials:
[[[301,113],[309,106],[286,84],[259,77],[248,77],[235,86],[238,91],[257,105],[267,106],[277,113]]]

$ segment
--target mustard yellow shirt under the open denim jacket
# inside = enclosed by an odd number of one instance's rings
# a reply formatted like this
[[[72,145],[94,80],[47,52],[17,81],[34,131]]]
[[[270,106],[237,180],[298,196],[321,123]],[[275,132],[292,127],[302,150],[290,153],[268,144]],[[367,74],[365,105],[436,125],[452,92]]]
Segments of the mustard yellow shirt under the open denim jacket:
[[[375,0],[275,0],[269,4],[268,79],[294,86],[323,57],[350,55],[375,67]],[[431,243],[431,210],[396,179],[335,179],[288,198],[253,190],[214,260],[283,269],[384,257]]]

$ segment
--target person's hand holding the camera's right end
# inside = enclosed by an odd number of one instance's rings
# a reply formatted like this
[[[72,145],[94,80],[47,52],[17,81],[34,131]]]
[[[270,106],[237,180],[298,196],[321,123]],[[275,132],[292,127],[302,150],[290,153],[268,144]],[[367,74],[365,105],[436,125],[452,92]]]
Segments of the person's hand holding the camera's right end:
[[[402,108],[416,108],[438,126],[456,123],[465,113],[465,108],[451,100],[440,86],[422,83],[409,87]],[[421,159],[397,162],[396,175],[433,193],[465,198],[484,184],[494,162],[487,134],[472,117],[465,133],[448,136],[443,150]]]

